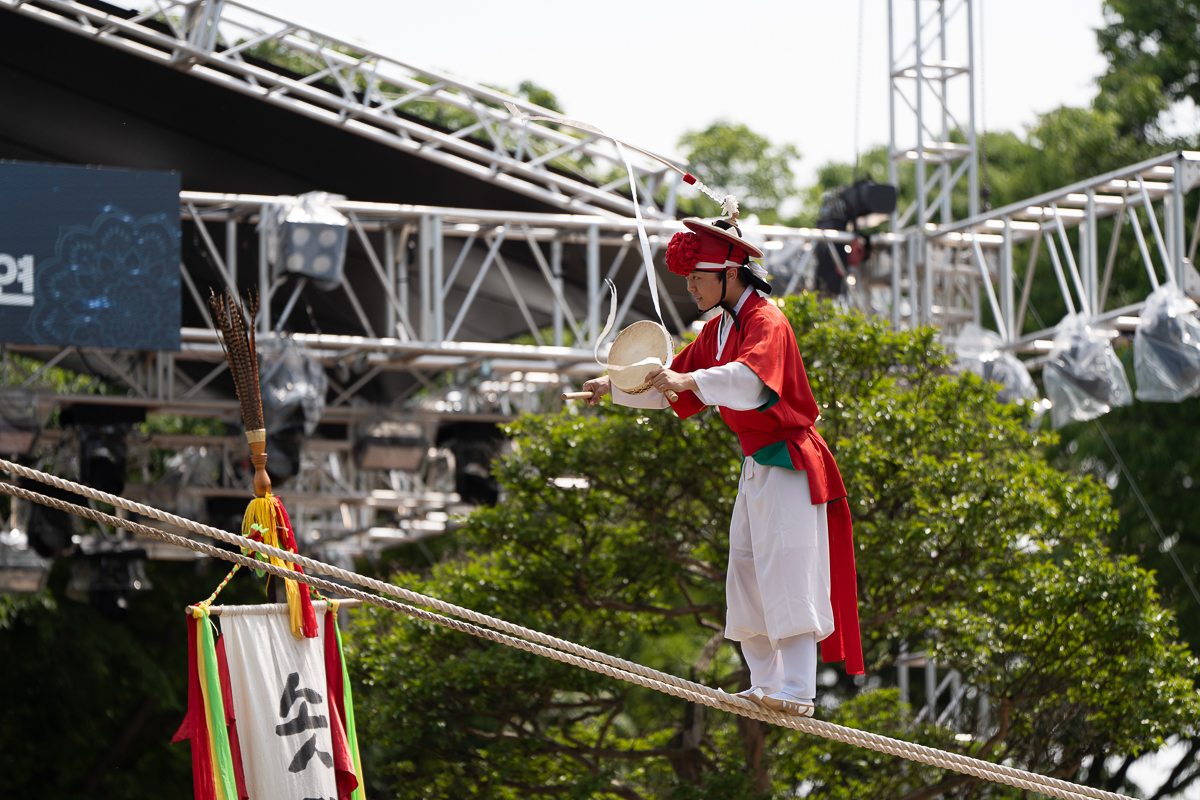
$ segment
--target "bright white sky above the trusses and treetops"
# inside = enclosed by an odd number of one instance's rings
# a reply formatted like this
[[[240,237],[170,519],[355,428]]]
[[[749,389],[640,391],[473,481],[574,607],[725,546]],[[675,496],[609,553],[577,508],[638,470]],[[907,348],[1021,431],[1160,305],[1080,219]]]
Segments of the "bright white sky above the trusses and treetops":
[[[893,1],[899,61],[914,0]],[[742,122],[800,151],[800,186],[828,161],[853,161],[856,113],[858,148],[888,140],[887,0],[247,5],[474,83],[533,80],[568,116],[658,152],[678,154],[685,132],[718,119]],[[926,14],[936,7],[922,6]],[[1105,68],[1094,32],[1100,0],[974,0],[974,14],[979,127],[1022,132],[1038,114],[1091,102]],[[965,8],[948,28],[947,59],[965,61]],[[965,124],[964,78],[952,79],[950,98]],[[896,138],[916,143],[912,119],[898,116]]]

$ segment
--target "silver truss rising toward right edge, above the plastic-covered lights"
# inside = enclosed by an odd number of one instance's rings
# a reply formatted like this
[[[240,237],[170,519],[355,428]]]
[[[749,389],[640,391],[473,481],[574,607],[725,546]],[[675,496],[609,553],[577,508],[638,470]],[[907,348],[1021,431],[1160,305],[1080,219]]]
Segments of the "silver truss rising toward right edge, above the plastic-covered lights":
[[[1043,320],[1044,330],[1020,333],[1044,248],[1067,311],[1132,330],[1142,302],[1109,308],[1118,288],[1114,284],[1117,243],[1126,228],[1132,229],[1151,288],[1170,273],[1188,294],[1200,296],[1200,276],[1192,265],[1200,218],[1188,239],[1183,213],[1184,198],[1198,184],[1200,152],[1176,151],[930,228],[924,236],[910,235],[892,253],[884,251],[870,272],[880,302],[876,311],[890,312],[911,325],[937,324],[953,337],[964,323],[979,321],[982,295],[997,332],[1012,349],[1044,354],[1051,347],[1051,320]],[[1098,223],[1106,217],[1115,221],[1109,241],[1102,242]],[[1014,259],[1022,243],[1027,260],[1018,284]],[[920,293],[912,287],[920,287]],[[892,297],[900,302],[888,307]],[[1031,366],[1038,363],[1034,359]]]

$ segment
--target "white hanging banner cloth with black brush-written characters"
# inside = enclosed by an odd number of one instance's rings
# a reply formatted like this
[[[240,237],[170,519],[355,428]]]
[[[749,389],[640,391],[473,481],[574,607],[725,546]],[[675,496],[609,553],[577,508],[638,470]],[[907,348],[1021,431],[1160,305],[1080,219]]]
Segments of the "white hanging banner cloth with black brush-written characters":
[[[246,790],[254,800],[337,798],[319,633],[296,640],[287,614],[221,616]]]

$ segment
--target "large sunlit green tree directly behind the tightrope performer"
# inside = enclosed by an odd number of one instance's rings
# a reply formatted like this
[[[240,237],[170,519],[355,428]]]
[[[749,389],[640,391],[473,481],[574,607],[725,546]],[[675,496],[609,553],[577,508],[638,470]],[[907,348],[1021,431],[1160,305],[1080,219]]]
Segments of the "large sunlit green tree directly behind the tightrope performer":
[[[856,519],[865,685],[822,716],[1120,788],[1105,757],[1189,733],[1195,662],[1153,578],[1116,558],[1108,493],[1046,463],[1052,435],[994,389],[944,373],[935,332],[893,332],[811,296],[785,302]],[[408,585],[734,691],[724,640],[727,524],[740,455],[715,414],[604,408],[521,419],[506,499]],[[560,487],[556,479],[582,479]],[[890,680],[901,643],[986,696],[960,742],[911,728]],[[689,706],[522,651],[382,613],[352,662],[373,792],[395,796],[755,798],[1016,792]],[[1152,676],[1147,680],[1147,676]],[[919,693],[914,697],[919,700]]]

